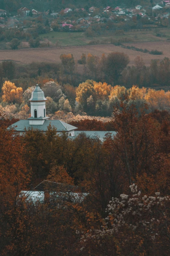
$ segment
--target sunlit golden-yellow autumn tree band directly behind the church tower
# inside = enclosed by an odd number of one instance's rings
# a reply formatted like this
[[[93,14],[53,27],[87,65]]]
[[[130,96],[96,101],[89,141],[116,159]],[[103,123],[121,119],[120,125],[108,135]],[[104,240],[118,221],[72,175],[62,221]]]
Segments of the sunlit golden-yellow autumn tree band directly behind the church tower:
[[[49,81],[50,80],[50,81]],[[128,106],[135,104],[137,111],[147,105],[146,113],[155,109],[170,111],[170,93],[163,90],[139,88],[133,85],[130,89],[124,86],[111,86],[106,82],[86,80],[77,88],[70,84],[63,86],[53,79],[39,80],[42,82],[46,101],[46,113],[57,118],[59,113],[76,115],[111,117],[113,109],[122,109],[121,102]],[[30,117],[31,94],[35,86],[23,91],[22,87],[5,81],[2,87],[0,110],[8,118],[27,119]]]

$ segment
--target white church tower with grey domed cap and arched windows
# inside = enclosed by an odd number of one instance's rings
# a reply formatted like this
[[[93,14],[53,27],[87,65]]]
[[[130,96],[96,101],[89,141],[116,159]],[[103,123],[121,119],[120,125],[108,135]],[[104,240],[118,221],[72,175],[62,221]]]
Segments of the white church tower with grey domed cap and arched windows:
[[[31,103],[31,117],[28,118],[30,125],[43,125],[44,121],[49,118],[46,116],[46,100],[44,92],[36,85],[29,99]]]

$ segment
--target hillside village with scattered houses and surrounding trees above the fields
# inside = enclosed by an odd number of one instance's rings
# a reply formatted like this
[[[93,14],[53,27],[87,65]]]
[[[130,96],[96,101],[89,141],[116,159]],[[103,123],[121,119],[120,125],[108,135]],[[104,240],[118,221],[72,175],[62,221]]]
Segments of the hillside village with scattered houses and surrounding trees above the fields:
[[[87,30],[86,36],[89,37],[94,34],[101,35],[105,31],[121,34],[131,29],[167,27],[169,16],[170,0],[154,2],[149,6],[92,6],[86,9],[73,9],[68,6],[65,9],[48,9],[44,12],[26,6],[18,9],[15,15],[0,9],[0,42],[7,43],[13,39],[11,48],[17,49],[20,44],[17,40],[32,40],[30,47],[38,47],[40,43],[35,42],[35,39],[50,31]],[[12,34],[8,33],[9,29]]]

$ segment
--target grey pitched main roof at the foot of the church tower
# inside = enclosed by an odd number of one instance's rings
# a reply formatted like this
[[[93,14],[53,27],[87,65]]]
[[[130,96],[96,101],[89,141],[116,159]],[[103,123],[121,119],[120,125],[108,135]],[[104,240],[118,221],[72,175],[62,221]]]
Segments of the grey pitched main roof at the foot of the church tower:
[[[29,120],[20,120],[13,125],[10,125],[8,128],[14,128],[16,131],[25,131],[25,128],[26,130],[33,128],[34,130],[38,129],[46,131],[49,125],[54,126],[57,131],[71,131],[77,129],[77,127],[64,123],[60,120],[45,120],[43,125],[30,125]]]

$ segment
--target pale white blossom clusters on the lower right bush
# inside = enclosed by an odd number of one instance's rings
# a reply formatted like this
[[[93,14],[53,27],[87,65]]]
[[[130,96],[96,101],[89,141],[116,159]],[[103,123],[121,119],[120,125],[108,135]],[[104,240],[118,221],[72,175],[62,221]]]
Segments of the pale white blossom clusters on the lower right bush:
[[[104,220],[104,225],[100,230],[90,230],[82,235],[81,250],[89,239],[96,240],[102,246],[101,240],[104,237],[116,235],[125,227],[139,232],[144,229],[146,236],[155,240],[160,224],[160,220],[156,218],[157,210],[160,207],[165,209],[165,202],[170,201],[170,198],[169,196],[161,197],[159,192],[155,193],[155,196],[141,196],[141,191],[138,191],[135,184],[131,185],[130,189],[133,193],[131,197],[125,194],[121,194],[120,198],[112,197],[106,208],[108,216]]]

